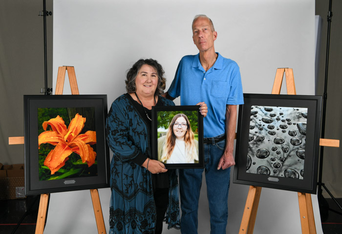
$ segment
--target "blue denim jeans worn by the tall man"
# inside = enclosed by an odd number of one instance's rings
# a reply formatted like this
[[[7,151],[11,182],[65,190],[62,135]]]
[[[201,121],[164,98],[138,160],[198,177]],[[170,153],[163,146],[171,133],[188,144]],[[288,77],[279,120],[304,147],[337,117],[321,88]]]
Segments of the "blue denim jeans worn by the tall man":
[[[217,170],[223,155],[226,140],[204,144],[204,164],[207,196],[210,211],[211,234],[225,234],[228,219],[228,191],[230,168]],[[179,190],[181,198],[181,233],[197,234],[198,200],[202,185],[203,169],[179,170]]]

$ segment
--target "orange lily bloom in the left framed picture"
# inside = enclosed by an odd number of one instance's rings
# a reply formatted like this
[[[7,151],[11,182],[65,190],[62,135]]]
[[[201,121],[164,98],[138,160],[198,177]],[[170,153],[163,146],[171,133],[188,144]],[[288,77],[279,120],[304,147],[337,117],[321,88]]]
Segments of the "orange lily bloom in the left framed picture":
[[[52,131],[46,131],[47,125],[50,125]],[[68,128],[59,115],[43,123],[45,131],[39,135],[38,145],[49,143],[56,146],[55,149],[51,149],[44,161],[44,165],[51,170],[51,174],[64,166],[72,152],[79,154],[82,162],[86,162],[88,167],[95,163],[96,152],[90,145],[96,144],[96,131],[86,131],[80,134],[84,126],[85,118],[79,114],[71,120]]]

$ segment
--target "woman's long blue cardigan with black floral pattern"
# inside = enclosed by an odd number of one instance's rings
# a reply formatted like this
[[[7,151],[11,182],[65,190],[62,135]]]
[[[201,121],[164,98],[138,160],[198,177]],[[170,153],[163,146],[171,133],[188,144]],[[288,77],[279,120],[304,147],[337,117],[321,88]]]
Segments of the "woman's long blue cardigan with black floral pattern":
[[[107,117],[107,141],[114,155],[110,163],[109,234],[153,234],[155,204],[152,176],[144,167],[131,162],[142,154],[151,158],[151,137],[129,94],[118,97]],[[159,96],[164,106],[174,103]],[[169,170],[168,228],[179,229],[179,199],[176,170]]]

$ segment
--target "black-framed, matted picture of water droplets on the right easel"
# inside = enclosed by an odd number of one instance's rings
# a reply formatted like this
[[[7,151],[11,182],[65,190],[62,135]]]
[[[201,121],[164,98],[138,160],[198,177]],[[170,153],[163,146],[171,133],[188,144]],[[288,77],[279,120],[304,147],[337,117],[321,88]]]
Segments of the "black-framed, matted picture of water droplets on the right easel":
[[[244,94],[234,183],[316,193],[321,96]]]

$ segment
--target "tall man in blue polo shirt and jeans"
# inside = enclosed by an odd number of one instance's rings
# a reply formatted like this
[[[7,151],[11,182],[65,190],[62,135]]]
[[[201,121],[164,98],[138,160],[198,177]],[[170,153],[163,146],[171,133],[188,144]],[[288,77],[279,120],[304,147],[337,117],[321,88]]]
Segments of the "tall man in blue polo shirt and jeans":
[[[234,61],[215,52],[217,32],[207,16],[195,16],[192,39],[199,54],[181,59],[165,96],[171,100],[181,96],[181,105],[205,102],[208,106],[208,115],[204,118],[204,161],[211,234],[224,234],[230,167],[235,165],[236,105],[243,104],[240,71]],[[203,169],[179,171],[183,234],[197,234],[202,172]]]

